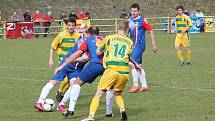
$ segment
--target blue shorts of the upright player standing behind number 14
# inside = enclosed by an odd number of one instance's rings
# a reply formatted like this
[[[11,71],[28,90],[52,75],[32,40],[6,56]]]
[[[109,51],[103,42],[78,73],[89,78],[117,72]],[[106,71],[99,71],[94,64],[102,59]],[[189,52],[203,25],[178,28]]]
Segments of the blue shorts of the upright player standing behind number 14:
[[[131,58],[138,64],[142,64],[142,55],[145,51],[145,47],[134,47],[131,53]]]

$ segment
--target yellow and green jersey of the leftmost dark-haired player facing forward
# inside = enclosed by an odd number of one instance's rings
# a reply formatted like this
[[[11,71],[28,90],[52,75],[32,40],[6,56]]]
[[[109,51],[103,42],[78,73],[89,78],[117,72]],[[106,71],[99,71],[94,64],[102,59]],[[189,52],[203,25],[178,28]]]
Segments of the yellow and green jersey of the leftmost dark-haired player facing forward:
[[[80,33],[74,32],[71,35],[68,30],[65,30],[57,35],[57,37],[51,44],[51,48],[56,50],[58,57],[60,58],[60,60],[62,60],[62,58],[64,58],[70,48],[75,45],[79,37]]]

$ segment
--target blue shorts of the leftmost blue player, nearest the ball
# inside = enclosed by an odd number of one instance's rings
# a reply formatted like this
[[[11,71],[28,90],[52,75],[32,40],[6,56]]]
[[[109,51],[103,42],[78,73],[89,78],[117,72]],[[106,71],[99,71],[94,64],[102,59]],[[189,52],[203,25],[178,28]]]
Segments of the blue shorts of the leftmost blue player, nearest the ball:
[[[77,69],[73,71],[68,71],[68,70],[60,70],[56,75],[52,77],[51,80],[56,80],[56,81],[62,81],[64,78],[67,76],[68,81],[74,77],[78,77],[79,73],[81,72],[82,69]]]

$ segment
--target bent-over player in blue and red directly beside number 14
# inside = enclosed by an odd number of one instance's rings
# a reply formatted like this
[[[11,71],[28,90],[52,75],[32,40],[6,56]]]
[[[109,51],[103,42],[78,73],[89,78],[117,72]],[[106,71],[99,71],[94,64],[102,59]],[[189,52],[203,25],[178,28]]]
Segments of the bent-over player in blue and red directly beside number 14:
[[[93,32],[95,29],[97,30],[96,33]],[[68,110],[63,113],[64,117],[70,117],[74,115],[74,109],[80,94],[81,86],[83,86],[85,83],[92,83],[99,75],[102,75],[104,72],[104,67],[102,65],[103,55],[98,56],[96,54],[96,41],[101,41],[103,38],[102,36],[95,36],[95,34],[99,33],[98,28],[90,27],[88,31],[90,33],[93,33],[94,35],[89,37],[75,53],[69,56],[68,59],[66,59],[66,61],[62,65],[55,69],[56,74],[69,63],[73,62],[76,58],[78,58],[80,54],[83,54],[85,51],[88,51],[90,53],[89,63],[79,73],[78,77],[73,81],[72,85],[70,86],[71,88],[68,89],[68,91],[70,91],[70,103]]]

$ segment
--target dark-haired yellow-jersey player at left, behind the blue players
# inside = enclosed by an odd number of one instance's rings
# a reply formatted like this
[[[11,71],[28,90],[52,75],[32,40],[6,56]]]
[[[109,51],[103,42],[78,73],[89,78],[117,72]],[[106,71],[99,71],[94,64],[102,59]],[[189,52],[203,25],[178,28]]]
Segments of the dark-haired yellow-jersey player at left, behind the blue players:
[[[59,33],[57,37],[54,39],[54,41],[51,44],[50,54],[49,54],[49,67],[51,68],[54,64],[53,62],[53,55],[56,53],[58,55],[58,62],[61,62],[67,52],[75,45],[75,42],[80,37],[80,34],[78,32],[75,32],[76,27],[76,19],[71,18],[65,21],[67,24],[67,29],[63,32]],[[63,98],[63,94],[66,92],[66,90],[69,88],[69,83],[67,78],[64,79],[64,81],[61,82],[60,88],[58,89],[58,92],[56,93],[56,99],[57,101],[61,101]]]

